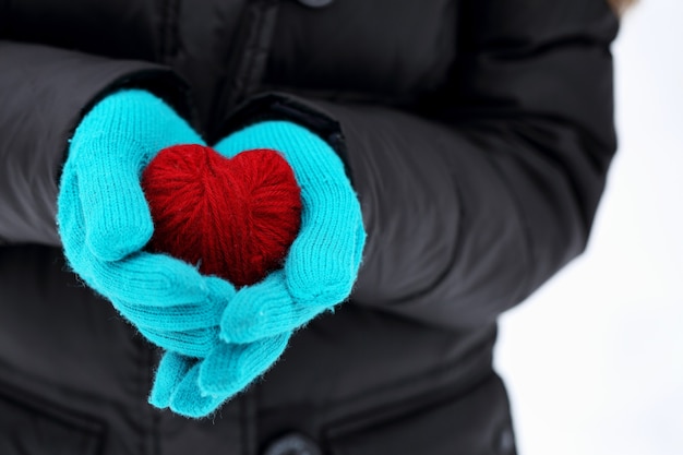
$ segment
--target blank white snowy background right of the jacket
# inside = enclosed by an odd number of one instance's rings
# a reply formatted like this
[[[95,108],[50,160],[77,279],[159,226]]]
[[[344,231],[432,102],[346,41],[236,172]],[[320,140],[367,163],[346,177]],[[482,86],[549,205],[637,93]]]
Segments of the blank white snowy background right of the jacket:
[[[683,455],[683,1],[642,0],[613,53],[588,250],[501,318],[519,455]]]

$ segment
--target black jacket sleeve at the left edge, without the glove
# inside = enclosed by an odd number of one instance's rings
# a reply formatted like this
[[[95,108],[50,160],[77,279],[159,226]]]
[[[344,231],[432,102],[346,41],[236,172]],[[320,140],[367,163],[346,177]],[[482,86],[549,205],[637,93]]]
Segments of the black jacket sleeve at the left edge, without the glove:
[[[164,67],[0,39],[0,243],[59,246],[57,182],[87,109],[121,86],[146,88],[190,116]]]

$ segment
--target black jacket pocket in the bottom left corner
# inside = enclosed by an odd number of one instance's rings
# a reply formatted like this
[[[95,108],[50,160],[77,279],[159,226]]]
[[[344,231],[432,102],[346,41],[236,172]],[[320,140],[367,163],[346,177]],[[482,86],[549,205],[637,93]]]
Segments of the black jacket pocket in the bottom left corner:
[[[0,454],[97,455],[104,424],[0,383]]]

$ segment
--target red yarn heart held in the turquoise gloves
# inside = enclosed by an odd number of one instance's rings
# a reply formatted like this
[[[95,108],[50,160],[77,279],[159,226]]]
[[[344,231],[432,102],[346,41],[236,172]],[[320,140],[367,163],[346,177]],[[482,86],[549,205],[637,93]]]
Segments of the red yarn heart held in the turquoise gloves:
[[[142,185],[154,220],[149,248],[235,286],[281,266],[299,231],[300,189],[272,149],[229,159],[211,147],[176,145],[149,163]]]

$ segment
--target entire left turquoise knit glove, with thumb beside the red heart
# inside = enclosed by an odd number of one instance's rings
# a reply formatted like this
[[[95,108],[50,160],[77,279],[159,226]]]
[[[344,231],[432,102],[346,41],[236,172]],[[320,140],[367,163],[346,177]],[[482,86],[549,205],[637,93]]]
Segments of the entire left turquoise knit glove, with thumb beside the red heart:
[[[235,288],[142,251],[154,227],[141,173],[160,149],[184,143],[203,141],[156,96],[140,89],[107,96],[71,140],[57,220],[69,264],[85,283],[155,344],[205,356]]]

